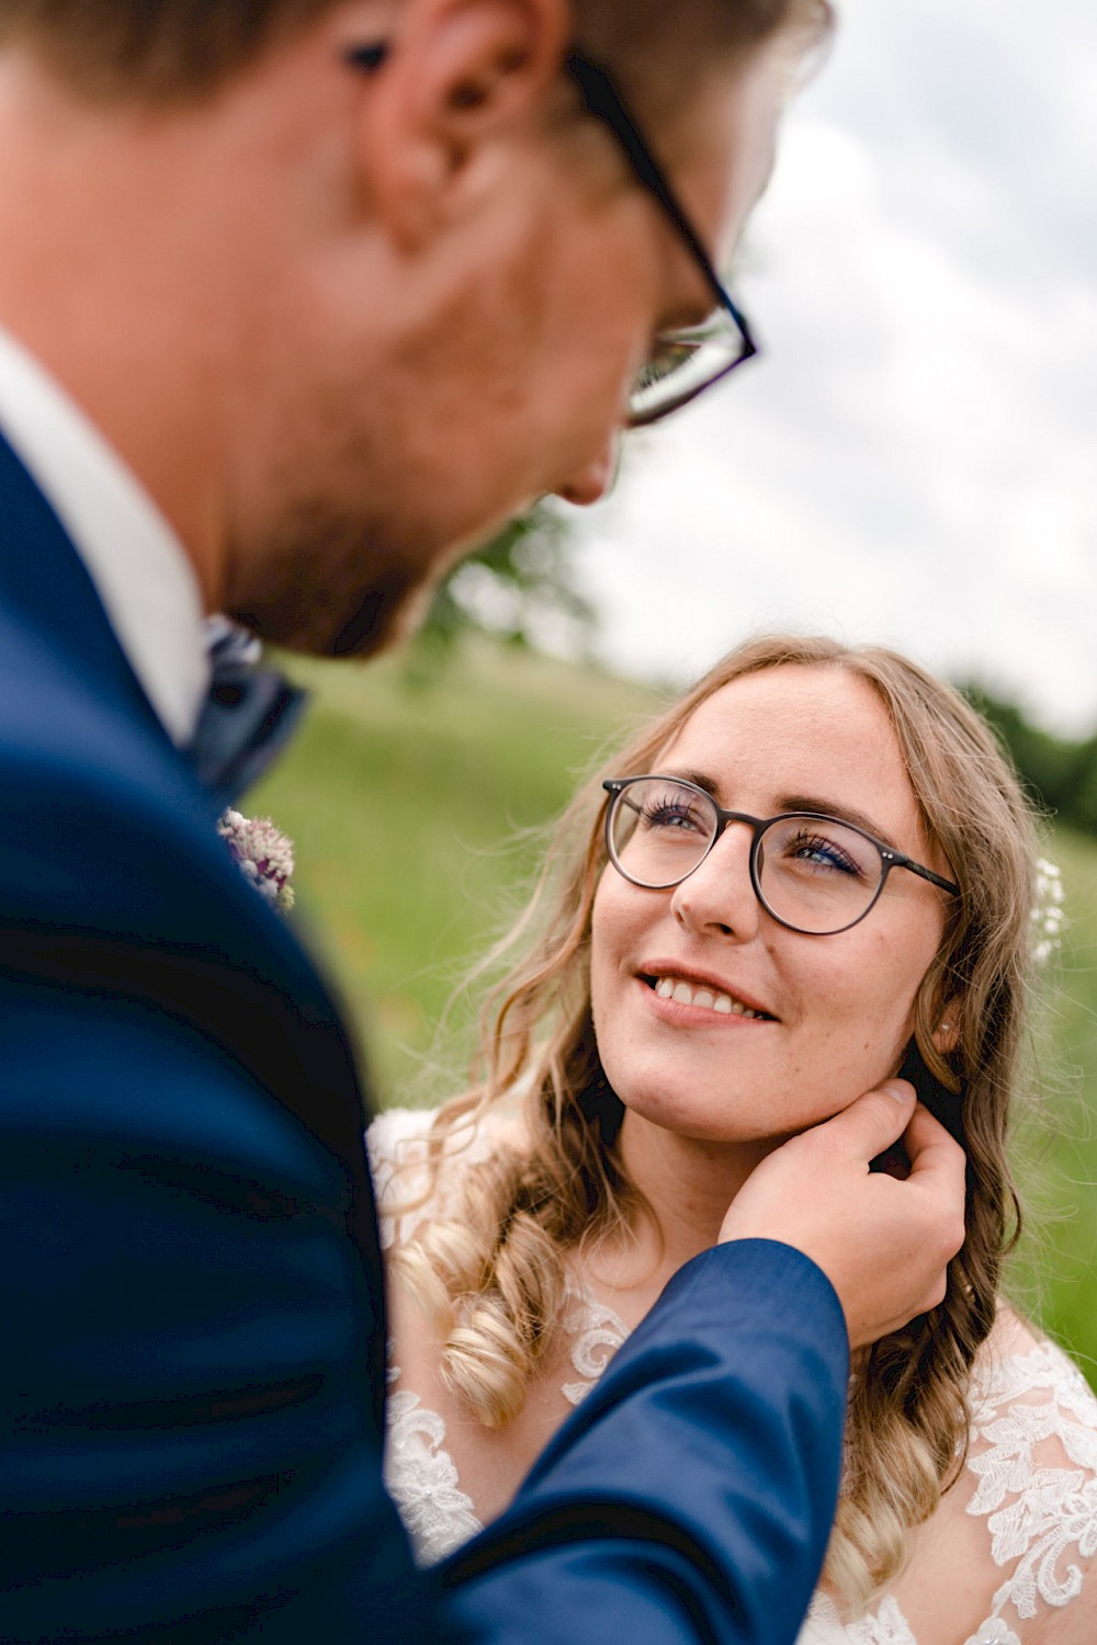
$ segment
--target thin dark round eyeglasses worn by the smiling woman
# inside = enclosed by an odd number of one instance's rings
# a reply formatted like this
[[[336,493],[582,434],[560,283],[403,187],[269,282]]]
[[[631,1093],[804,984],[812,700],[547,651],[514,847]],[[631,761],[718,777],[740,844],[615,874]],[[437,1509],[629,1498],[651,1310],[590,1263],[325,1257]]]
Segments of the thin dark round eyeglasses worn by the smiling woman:
[[[875,906],[891,869],[929,880],[951,897],[960,888],[854,822],[816,811],[752,818],[725,811],[681,776],[623,776],[602,783],[610,796],[605,846],[632,885],[668,892],[694,873],[729,822],[753,834],[750,883],[778,924],[804,936],[837,936]]]

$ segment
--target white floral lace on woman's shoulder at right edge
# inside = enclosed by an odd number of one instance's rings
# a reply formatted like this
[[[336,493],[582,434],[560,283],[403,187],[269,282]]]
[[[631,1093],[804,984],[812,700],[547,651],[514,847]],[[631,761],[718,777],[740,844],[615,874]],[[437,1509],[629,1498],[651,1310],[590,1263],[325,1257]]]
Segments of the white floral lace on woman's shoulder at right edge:
[[[980,1369],[965,1476],[965,1512],[985,1522],[998,1578],[967,1645],[1097,1637],[1097,1398],[1054,1344]],[[1092,1632],[1066,1625],[1079,1599]]]

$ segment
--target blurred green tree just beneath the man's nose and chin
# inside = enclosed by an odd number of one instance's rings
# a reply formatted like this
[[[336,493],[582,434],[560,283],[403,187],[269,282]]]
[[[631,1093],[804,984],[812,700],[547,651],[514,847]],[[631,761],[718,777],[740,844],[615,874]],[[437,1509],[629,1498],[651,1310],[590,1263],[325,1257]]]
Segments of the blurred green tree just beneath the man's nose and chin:
[[[405,650],[405,676],[413,684],[434,681],[474,630],[516,648],[587,656],[595,627],[576,576],[571,523],[556,503],[541,502],[439,584]]]

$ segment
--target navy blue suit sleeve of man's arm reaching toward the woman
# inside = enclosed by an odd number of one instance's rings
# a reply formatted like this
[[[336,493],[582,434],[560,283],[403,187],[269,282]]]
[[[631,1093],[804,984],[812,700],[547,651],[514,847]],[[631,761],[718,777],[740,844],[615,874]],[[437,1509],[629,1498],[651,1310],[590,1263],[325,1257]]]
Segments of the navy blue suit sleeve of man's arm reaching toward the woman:
[[[826,1551],[849,1352],[799,1252],[724,1245],[671,1281],[535,1466],[444,1569],[485,1640],[796,1638]],[[531,1627],[536,1619],[536,1627]]]

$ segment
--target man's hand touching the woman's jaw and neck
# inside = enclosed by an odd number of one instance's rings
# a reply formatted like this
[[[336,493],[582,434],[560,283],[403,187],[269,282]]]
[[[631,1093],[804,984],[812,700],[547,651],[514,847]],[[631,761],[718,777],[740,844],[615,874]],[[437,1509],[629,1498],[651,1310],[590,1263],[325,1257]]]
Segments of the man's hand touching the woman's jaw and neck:
[[[900,1137],[910,1176],[870,1173]],[[763,1160],[724,1219],[720,1240],[730,1239],[811,1257],[839,1295],[850,1347],[863,1347],[944,1296],[964,1244],[964,1150],[906,1081],[890,1079]]]

